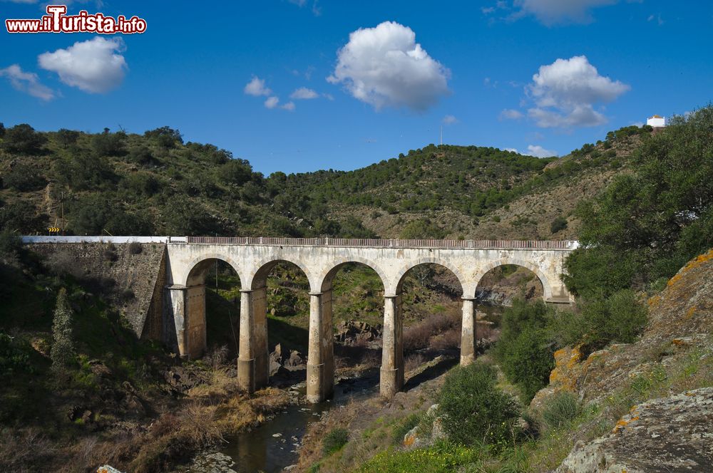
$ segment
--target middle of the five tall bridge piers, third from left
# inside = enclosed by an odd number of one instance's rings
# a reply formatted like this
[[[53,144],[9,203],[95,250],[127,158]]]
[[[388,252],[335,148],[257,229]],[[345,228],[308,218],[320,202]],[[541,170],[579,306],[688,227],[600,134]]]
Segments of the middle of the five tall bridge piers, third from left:
[[[307,400],[322,402],[334,391],[332,291],[309,294]]]

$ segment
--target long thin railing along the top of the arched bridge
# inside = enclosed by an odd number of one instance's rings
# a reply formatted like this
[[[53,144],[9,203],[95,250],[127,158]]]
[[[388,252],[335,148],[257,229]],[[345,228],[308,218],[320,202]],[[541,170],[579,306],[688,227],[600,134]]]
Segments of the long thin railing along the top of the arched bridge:
[[[270,246],[356,246],[365,248],[443,249],[575,249],[572,240],[432,240],[366,238],[279,238],[279,237],[187,237],[188,244],[233,244]],[[172,239],[172,241],[174,241]]]

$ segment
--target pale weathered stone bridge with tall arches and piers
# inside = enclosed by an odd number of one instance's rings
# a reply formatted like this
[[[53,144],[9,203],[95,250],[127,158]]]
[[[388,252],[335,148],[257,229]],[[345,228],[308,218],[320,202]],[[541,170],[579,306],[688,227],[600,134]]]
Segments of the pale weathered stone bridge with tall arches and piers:
[[[206,348],[205,278],[220,259],[240,278],[240,343],[238,380],[250,392],[267,385],[267,276],[281,261],[295,264],[309,280],[309,341],[307,398],[312,402],[332,394],[334,336],[332,280],[347,263],[369,266],[384,285],[381,394],[393,396],[404,385],[401,286],[409,269],[438,264],[458,278],[463,290],[461,364],[475,356],[474,299],[478,282],[504,264],[524,266],[538,276],[550,303],[570,303],[560,276],[565,257],[577,241],[472,241],[395,239],[293,239],[272,237],[24,237],[28,244],[161,242],[163,263],[163,338],[185,357]],[[158,283],[157,283],[158,285]],[[155,289],[160,291],[162,288]],[[159,296],[160,299],[160,296]],[[139,334],[140,334],[140,328]]]

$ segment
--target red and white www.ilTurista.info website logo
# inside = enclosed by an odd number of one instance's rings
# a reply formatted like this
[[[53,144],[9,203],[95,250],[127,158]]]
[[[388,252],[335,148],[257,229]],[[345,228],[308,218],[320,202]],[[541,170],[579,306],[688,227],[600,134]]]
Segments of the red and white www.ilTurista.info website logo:
[[[48,5],[41,19],[5,20],[8,33],[101,33],[133,34],[146,31],[146,20],[138,16],[127,19],[101,13],[89,14],[82,10],[77,15],[67,15],[66,5]]]

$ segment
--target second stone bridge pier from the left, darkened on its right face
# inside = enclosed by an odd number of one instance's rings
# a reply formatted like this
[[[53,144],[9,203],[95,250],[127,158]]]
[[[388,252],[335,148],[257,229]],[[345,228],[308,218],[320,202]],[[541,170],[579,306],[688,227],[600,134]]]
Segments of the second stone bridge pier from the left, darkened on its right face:
[[[237,356],[237,381],[248,393],[267,385],[267,289],[240,291],[240,345]]]

